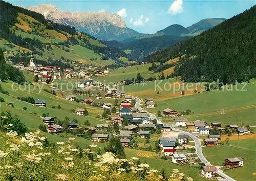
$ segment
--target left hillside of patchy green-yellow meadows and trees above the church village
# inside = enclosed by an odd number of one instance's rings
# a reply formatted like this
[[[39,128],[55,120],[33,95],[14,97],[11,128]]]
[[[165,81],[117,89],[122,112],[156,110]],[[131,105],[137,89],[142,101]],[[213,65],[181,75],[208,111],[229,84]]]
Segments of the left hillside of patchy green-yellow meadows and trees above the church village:
[[[54,23],[42,14],[1,0],[0,48],[7,52],[7,58],[27,60],[32,56],[36,63],[61,60],[124,64],[120,58],[126,57],[119,49],[107,47],[86,33],[78,33],[74,27]]]

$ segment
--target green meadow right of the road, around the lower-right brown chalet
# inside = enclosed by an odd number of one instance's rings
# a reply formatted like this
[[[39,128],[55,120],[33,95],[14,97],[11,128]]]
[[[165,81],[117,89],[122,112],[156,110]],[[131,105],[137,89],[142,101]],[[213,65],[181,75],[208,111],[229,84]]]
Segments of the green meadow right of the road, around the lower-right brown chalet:
[[[242,157],[244,166],[240,168],[227,169],[224,172],[236,180],[256,179],[256,139],[229,141],[229,145],[218,145],[214,147],[203,147],[206,159],[213,165],[223,166],[223,160],[231,157]]]

